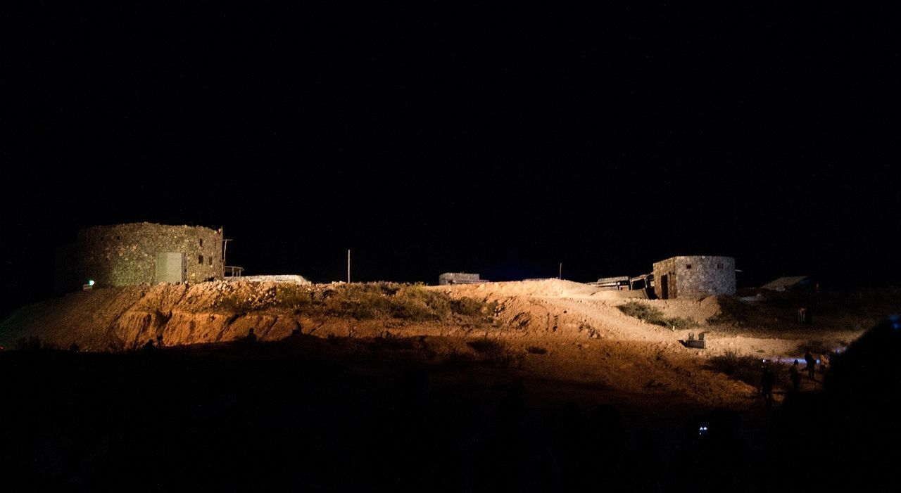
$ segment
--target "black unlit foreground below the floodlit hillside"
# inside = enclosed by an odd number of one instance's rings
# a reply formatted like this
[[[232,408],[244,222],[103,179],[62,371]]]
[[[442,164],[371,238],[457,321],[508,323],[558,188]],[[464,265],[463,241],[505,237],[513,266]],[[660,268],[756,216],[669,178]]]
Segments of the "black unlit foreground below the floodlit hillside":
[[[782,408],[749,419],[604,389],[568,390],[523,379],[498,360],[433,363],[409,351],[414,343],[370,341],[365,351],[348,344],[292,336],[133,354],[0,353],[0,489],[841,491],[896,484],[895,453],[877,447],[898,436],[898,421],[894,409],[878,408],[890,403],[869,387],[851,397],[788,396]]]

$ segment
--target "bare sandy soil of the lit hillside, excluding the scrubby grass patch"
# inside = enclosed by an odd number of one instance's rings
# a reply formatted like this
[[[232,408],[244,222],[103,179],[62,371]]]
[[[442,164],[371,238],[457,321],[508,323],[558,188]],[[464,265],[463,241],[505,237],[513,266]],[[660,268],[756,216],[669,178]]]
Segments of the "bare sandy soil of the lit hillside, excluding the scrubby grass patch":
[[[810,340],[839,347],[862,333],[710,326],[707,318],[719,311],[714,298],[648,300],[643,291],[608,291],[553,279],[426,289],[496,303],[492,321],[311,319],[296,310],[266,308],[275,292],[272,282],[160,284],[77,292],[26,307],[0,324],[0,344],[12,347],[17,339],[37,335],[63,348],[75,342],[86,350],[127,350],[155,336],[162,336],[166,345],[212,343],[239,338],[253,328],[262,340],[278,340],[298,330],[321,337],[416,336],[442,358],[478,356],[467,343],[490,338],[505,346],[511,366],[523,378],[543,382],[549,390],[597,388],[636,403],[693,402],[709,408],[749,409],[760,405],[758,390],[714,371],[710,358],[727,352],[761,360],[797,358],[798,346]],[[251,309],[223,312],[217,307],[223,292],[240,293],[251,302]],[[647,303],[669,317],[691,318],[698,326],[674,330],[644,323],[617,309],[629,301]],[[680,343],[689,333],[701,332],[705,349]],[[805,386],[815,385],[805,381]]]

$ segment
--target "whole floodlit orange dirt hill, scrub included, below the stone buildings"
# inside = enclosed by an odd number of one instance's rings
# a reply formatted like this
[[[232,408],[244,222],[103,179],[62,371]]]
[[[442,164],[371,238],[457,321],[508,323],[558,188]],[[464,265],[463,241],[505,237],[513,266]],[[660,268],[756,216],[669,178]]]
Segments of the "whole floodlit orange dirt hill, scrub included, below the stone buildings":
[[[660,315],[642,321],[623,312],[626,304]],[[639,400],[669,396],[748,408],[757,402],[756,389],[715,370],[715,358],[793,358],[812,341],[838,347],[861,333],[778,320],[763,327],[734,307],[727,311],[716,298],[647,300],[643,291],[553,279],[429,287],[159,284],[81,291],[24,307],[0,324],[0,345],[23,345],[31,337],[59,348],[128,351],[158,336],[164,345],[192,345],[232,341],[250,329],[261,341],[298,333],[415,337],[419,350],[437,360],[494,357],[532,379],[598,385]],[[706,349],[680,342],[702,332]]]

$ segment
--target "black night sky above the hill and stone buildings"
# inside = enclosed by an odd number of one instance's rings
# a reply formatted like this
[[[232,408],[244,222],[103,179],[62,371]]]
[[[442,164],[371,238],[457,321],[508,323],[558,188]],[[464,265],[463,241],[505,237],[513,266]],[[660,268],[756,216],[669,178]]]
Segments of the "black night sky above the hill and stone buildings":
[[[132,221],[223,226],[229,264],[315,282],[347,248],[362,281],[899,271],[887,12],[148,4],[4,14],[7,305],[49,296],[53,245]]]

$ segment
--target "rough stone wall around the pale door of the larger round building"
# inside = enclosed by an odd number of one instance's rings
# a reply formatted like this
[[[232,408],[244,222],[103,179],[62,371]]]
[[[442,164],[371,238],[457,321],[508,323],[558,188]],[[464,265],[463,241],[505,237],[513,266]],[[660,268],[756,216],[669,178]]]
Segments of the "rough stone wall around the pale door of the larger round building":
[[[222,279],[223,235],[197,226],[149,222],[96,226],[78,231],[76,271],[79,282],[93,279],[97,287],[157,282],[156,257],[178,252],[187,257],[186,282]]]

